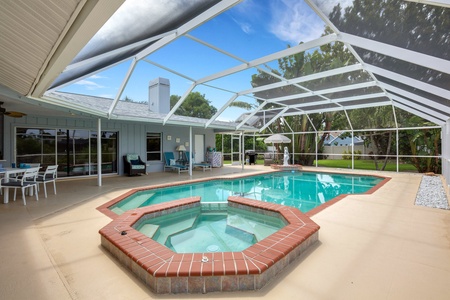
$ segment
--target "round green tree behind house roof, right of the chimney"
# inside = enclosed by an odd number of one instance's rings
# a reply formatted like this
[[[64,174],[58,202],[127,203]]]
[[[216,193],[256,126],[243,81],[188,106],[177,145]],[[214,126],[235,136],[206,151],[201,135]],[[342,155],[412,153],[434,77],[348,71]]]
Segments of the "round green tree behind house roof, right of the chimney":
[[[178,95],[170,96],[170,108],[181,99]],[[175,112],[179,116],[210,119],[217,112],[217,108],[211,105],[211,101],[199,92],[190,93],[181,106]]]

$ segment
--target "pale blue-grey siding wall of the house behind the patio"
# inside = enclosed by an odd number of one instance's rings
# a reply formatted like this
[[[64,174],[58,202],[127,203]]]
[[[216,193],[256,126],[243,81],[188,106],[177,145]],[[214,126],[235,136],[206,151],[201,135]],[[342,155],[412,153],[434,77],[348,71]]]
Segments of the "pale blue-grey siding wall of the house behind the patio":
[[[44,117],[44,116],[26,116],[22,118],[4,119],[4,166],[11,166],[15,160],[15,128],[16,127],[35,127],[35,128],[65,128],[65,129],[84,129],[97,131],[98,119],[88,118],[62,118],[62,117]],[[189,142],[189,126],[160,125],[151,123],[125,122],[116,120],[101,121],[102,131],[118,132],[118,173],[123,174],[122,156],[128,153],[137,153],[143,161],[147,157],[147,133],[162,133],[162,152],[172,151],[177,155],[175,148],[177,145]],[[205,145],[215,144],[215,133],[213,129],[192,128],[192,136],[195,134],[205,135]],[[171,136],[171,140],[167,136]],[[177,143],[177,138],[180,143]],[[192,141],[193,142],[193,141]],[[186,147],[191,150],[191,145]],[[147,172],[161,172],[164,170],[163,157],[161,161],[148,161]]]

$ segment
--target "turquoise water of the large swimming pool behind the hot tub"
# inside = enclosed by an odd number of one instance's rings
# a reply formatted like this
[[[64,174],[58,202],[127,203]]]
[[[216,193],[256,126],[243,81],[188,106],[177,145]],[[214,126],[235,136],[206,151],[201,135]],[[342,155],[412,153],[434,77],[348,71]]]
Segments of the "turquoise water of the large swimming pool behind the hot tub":
[[[202,202],[226,202],[229,196],[239,195],[292,206],[305,213],[341,194],[364,193],[382,180],[350,174],[276,172],[140,191],[110,209],[121,214],[133,208],[186,197],[200,196]]]

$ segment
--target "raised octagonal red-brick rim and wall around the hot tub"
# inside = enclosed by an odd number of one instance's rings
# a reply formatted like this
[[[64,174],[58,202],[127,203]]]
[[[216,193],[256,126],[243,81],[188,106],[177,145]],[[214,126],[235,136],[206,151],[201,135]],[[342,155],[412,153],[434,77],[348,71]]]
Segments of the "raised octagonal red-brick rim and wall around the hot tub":
[[[243,197],[228,205],[265,215],[281,215],[285,227],[242,252],[175,253],[132,226],[202,205],[191,197],[123,213],[100,230],[101,244],[158,294],[258,290],[318,240],[319,226],[298,209]]]

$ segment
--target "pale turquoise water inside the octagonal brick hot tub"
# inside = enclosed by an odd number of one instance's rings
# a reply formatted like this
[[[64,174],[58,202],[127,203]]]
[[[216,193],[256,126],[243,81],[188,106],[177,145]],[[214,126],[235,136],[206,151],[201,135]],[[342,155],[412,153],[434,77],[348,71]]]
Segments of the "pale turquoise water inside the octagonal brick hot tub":
[[[174,252],[204,253],[242,251],[285,225],[281,216],[195,207],[147,219],[136,229]]]

